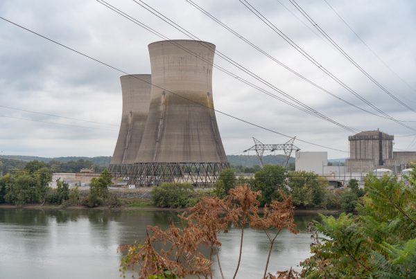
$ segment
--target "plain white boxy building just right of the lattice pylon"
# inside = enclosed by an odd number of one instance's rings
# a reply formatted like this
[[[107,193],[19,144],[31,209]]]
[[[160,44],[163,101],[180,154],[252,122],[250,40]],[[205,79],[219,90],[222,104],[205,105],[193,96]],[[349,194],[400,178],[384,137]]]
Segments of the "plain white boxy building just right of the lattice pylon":
[[[322,165],[328,164],[328,152],[301,152],[295,154],[295,170],[322,174]]]

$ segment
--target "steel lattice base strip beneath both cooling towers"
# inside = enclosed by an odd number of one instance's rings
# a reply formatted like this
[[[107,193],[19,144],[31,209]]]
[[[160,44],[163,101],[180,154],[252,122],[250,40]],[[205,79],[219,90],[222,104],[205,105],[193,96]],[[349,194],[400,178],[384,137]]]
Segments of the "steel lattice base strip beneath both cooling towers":
[[[191,183],[212,186],[229,163],[136,163],[110,165],[115,177],[123,177],[129,185],[155,186],[162,183]]]

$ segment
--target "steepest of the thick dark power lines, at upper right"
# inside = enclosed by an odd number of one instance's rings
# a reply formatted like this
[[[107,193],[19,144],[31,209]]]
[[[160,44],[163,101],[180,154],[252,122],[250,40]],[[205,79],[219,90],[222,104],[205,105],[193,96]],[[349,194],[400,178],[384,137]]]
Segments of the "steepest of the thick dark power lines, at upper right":
[[[333,45],[335,46],[335,48],[345,57],[347,58],[347,60],[349,62],[351,62],[359,71],[361,71],[361,73],[363,73],[363,75],[365,75],[370,81],[372,81],[374,84],[376,84],[377,87],[379,87],[381,90],[383,90],[385,93],[388,94],[388,96],[390,96],[391,98],[393,98],[396,102],[399,102],[399,104],[403,105],[404,107],[406,107],[406,109],[416,112],[415,109],[409,107],[408,105],[406,105],[406,103],[402,102],[399,98],[397,98],[397,96],[395,96],[395,94],[393,94],[392,92],[390,92],[388,89],[386,89],[385,87],[383,87],[382,84],[380,84],[380,82],[378,82],[375,78],[373,78],[372,75],[370,75],[370,73],[368,73],[367,71],[365,71],[365,69],[363,69],[363,67],[361,67],[351,56],[349,56],[344,50],[343,48],[341,48],[339,46],[339,44],[337,44],[309,15],[308,13],[295,1],[295,0],[289,0],[293,6],[295,6],[295,8],[297,10],[299,10],[299,12],[309,21],[311,22],[311,24],[313,26],[315,26],[315,28]]]

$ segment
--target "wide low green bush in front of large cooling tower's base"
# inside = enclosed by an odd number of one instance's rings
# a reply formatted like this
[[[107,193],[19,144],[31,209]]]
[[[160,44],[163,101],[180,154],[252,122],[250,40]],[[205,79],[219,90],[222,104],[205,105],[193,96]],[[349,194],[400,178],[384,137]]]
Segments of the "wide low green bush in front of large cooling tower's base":
[[[182,208],[192,206],[196,193],[189,183],[163,183],[152,189],[152,201],[158,207]]]

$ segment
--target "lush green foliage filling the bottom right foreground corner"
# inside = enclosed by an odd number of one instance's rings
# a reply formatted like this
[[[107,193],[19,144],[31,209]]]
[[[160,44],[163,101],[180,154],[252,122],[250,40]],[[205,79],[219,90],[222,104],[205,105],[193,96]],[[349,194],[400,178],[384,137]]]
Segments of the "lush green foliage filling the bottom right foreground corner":
[[[409,186],[396,177],[367,177],[358,215],[315,222],[313,255],[302,263],[302,276],[416,278],[415,185],[411,176]]]

